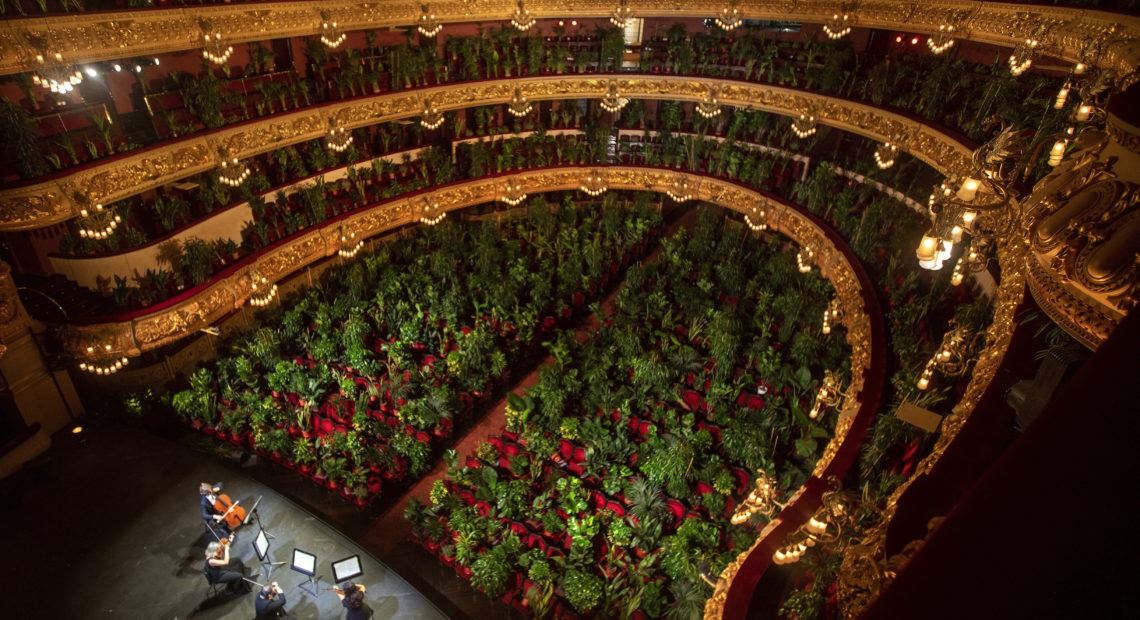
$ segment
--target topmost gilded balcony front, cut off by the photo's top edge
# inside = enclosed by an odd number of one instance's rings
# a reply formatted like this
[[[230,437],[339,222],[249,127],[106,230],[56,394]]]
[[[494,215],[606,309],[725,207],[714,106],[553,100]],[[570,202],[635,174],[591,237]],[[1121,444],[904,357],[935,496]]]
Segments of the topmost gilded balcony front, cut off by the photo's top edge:
[[[145,56],[201,47],[207,22],[230,42],[261,41],[283,36],[319,34],[321,11],[347,31],[414,25],[422,0],[370,2],[258,2],[213,7],[65,14],[8,19],[0,24],[0,75],[35,68],[32,40],[48,41],[68,62],[95,62]],[[442,23],[494,23],[510,18],[514,0],[451,0],[430,2]],[[627,3],[635,16],[711,17],[727,2],[640,1]],[[853,3],[856,5],[856,3]],[[609,17],[613,0],[529,0],[527,9],[537,18]],[[839,2],[832,0],[741,0],[736,3],[749,19],[821,23]],[[953,18],[960,39],[1004,47],[1021,42],[1041,27],[1042,49],[1075,60],[1089,41],[1100,39],[1104,52],[1097,64],[1121,75],[1140,65],[1140,18],[1101,10],[976,1],[861,1],[850,9],[855,25],[871,28],[927,33]]]

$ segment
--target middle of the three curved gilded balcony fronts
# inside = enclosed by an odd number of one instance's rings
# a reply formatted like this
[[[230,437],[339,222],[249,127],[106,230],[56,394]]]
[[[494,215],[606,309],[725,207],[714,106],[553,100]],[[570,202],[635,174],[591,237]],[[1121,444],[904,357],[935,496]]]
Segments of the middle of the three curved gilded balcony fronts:
[[[936,128],[874,106],[801,90],[734,80],[648,75],[573,75],[463,82],[401,90],[308,107],[189,136],[27,187],[0,191],[0,230],[25,230],[66,221],[84,205],[108,204],[220,165],[220,149],[249,157],[324,136],[329,120],[356,129],[410,119],[431,100],[440,111],[505,104],[515,89],[531,100],[601,98],[611,81],[625,97],[700,101],[719,88],[725,105],[776,114],[812,111],[817,121],[876,140],[896,140],[904,150],[946,173],[969,169],[971,147]]]

